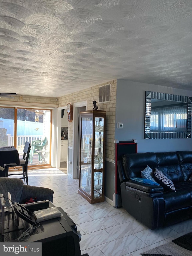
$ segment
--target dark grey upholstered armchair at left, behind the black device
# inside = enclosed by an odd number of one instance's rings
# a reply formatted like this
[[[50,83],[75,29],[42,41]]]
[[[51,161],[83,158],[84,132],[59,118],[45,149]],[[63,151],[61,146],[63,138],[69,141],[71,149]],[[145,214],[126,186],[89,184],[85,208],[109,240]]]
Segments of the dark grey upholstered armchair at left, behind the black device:
[[[23,184],[23,181],[18,178],[0,178],[0,194],[3,194],[6,201],[5,206],[10,206],[8,203],[8,192],[11,194],[11,200],[17,203],[25,202],[26,198],[36,198],[36,201],[49,200],[53,201],[53,191],[49,188],[42,188]]]

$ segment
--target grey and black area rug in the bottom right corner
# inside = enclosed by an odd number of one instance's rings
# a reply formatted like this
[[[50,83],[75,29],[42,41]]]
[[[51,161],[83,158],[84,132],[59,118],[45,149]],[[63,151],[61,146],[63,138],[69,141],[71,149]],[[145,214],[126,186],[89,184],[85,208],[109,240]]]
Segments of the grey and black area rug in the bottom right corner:
[[[192,255],[192,232],[180,236],[171,242],[160,245],[149,251],[142,252],[142,256],[191,256]]]

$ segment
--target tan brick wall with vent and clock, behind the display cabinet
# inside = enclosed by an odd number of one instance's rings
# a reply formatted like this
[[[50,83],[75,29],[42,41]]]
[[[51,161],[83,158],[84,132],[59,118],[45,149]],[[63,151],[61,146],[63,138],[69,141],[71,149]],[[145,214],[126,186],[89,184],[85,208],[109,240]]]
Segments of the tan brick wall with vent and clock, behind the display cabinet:
[[[102,83],[90,88],[74,92],[58,98],[59,107],[67,106],[67,103],[73,105],[74,103],[87,101],[87,110],[93,109],[93,102],[99,98],[99,86],[111,84],[111,98],[110,102],[98,104],[98,110],[106,110],[106,158],[114,159],[115,154],[115,113],[116,113],[116,87],[117,80],[112,80],[107,83]],[[73,122],[69,123],[69,146],[73,146]]]

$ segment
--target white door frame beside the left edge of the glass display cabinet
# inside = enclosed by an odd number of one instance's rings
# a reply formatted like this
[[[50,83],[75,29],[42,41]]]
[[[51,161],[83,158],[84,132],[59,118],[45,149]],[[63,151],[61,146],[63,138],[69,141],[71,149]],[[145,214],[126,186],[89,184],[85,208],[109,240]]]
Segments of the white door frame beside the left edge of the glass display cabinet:
[[[78,165],[78,140],[79,140],[79,107],[85,107],[87,110],[87,101],[81,101],[73,104],[73,151],[72,151],[72,179],[77,178]]]

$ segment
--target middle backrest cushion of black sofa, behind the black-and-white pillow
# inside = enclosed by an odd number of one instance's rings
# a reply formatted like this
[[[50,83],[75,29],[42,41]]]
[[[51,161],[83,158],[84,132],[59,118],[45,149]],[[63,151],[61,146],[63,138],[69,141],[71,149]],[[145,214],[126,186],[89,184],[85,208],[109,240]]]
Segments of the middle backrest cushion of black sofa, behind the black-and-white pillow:
[[[173,182],[183,181],[183,173],[176,152],[156,153],[158,170]]]

